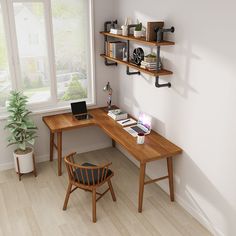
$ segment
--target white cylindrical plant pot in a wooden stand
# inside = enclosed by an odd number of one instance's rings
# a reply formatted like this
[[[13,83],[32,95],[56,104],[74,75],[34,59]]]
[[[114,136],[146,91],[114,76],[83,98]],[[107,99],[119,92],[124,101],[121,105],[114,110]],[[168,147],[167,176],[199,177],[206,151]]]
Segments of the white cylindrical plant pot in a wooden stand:
[[[19,160],[19,166],[20,166],[20,173],[25,174],[32,172],[34,170],[34,163],[33,163],[33,152],[34,150],[30,148],[31,150],[27,152],[26,154],[18,154],[16,153],[16,150],[14,151],[14,164],[15,164],[15,170],[18,172],[17,168],[17,158]]]

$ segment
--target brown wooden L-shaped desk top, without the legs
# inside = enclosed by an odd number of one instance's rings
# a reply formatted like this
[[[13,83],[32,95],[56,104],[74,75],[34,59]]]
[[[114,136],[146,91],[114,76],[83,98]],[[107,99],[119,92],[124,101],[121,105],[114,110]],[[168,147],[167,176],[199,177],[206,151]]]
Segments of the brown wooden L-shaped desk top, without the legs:
[[[97,125],[140,162],[149,162],[175,156],[182,152],[181,148],[155,131],[151,131],[149,135],[145,136],[144,144],[138,145],[136,138],[126,132],[121,125],[109,117],[103,108],[91,109],[89,113],[93,116],[93,118],[89,120],[77,120],[71,113],[65,113],[45,116],[43,117],[43,121],[52,133]]]

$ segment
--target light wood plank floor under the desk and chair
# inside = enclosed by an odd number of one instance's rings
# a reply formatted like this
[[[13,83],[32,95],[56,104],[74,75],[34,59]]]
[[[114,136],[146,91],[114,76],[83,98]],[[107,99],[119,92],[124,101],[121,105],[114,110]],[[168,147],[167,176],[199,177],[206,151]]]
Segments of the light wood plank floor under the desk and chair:
[[[106,194],[97,203],[97,223],[91,221],[91,194],[72,193],[62,211],[67,173],[57,176],[57,161],[37,165],[38,177],[14,170],[0,172],[0,235],[211,235],[156,184],[145,186],[143,213],[137,212],[138,168],[115,148],[80,155],[81,162],[112,161],[117,202]]]

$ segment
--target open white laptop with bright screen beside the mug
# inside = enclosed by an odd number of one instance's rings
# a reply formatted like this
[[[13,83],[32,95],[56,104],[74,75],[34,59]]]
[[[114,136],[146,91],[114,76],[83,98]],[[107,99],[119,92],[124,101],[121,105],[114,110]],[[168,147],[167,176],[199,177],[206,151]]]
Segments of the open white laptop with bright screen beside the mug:
[[[138,117],[138,122],[136,125],[125,127],[129,134],[133,137],[137,137],[138,133],[144,133],[145,135],[150,134],[151,132],[151,117],[147,114],[141,112]]]

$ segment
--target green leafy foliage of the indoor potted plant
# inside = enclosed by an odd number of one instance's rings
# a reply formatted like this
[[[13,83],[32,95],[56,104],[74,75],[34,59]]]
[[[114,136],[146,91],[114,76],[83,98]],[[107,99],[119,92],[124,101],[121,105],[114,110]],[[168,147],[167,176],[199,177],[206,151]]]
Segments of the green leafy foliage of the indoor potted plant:
[[[17,145],[17,150],[26,151],[27,145],[34,145],[37,127],[29,118],[32,112],[26,108],[28,98],[19,91],[11,91],[7,111],[9,112],[5,129],[11,135],[8,146]]]

